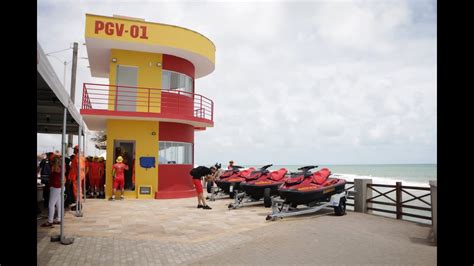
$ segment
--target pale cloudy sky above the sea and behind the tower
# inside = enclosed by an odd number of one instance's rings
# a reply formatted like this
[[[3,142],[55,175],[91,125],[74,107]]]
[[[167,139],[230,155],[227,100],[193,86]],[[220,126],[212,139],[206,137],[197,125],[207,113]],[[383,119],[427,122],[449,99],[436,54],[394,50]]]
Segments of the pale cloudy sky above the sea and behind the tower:
[[[216,68],[195,92],[214,101],[214,127],[195,133],[196,164],[437,162],[436,1],[38,0],[37,11],[46,53],[78,42],[87,57],[86,13],[178,25],[212,40]],[[54,56],[63,80],[72,50]],[[79,59],[78,109],[82,83],[108,84],[87,66]],[[69,63],[67,90],[70,72]],[[60,135],[38,134],[38,151],[59,144]]]

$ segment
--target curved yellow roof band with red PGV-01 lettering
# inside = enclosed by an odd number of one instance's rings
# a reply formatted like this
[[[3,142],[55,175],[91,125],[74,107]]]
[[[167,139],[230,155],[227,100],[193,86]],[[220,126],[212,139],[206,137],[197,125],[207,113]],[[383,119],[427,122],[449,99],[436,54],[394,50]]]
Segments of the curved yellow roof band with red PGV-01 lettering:
[[[132,27],[138,29],[138,37],[132,37]],[[173,25],[86,14],[86,38],[174,47],[202,55],[215,64],[216,48],[208,38]]]

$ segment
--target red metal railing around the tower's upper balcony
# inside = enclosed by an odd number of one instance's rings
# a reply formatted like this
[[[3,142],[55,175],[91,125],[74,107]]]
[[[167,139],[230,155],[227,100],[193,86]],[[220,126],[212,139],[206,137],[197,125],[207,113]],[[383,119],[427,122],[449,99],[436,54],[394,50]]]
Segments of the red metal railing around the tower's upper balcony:
[[[82,109],[214,119],[214,103],[200,94],[122,85],[84,83]]]

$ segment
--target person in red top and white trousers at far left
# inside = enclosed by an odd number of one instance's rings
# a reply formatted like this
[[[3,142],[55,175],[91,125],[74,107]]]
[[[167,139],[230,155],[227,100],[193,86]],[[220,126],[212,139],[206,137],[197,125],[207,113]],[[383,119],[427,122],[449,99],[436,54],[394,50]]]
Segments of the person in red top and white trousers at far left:
[[[49,176],[50,193],[49,193],[49,210],[48,221],[42,224],[42,227],[52,227],[53,224],[61,223],[61,155],[54,153],[50,157],[51,174]],[[58,218],[54,220],[54,212],[58,211]]]

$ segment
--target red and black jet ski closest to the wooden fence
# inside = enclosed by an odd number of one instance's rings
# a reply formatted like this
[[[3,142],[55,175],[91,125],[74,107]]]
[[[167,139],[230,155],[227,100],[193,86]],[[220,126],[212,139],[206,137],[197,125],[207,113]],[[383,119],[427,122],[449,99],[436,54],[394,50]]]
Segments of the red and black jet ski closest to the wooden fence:
[[[321,201],[329,201],[332,195],[344,192],[346,180],[329,178],[331,171],[328,168],[312,173],[310,170],[316,167],[304,166],[298,168],[300,172],[290,174],[290,178],[278,189],[285,203],[294,208],[299,204],[312,206]]]

